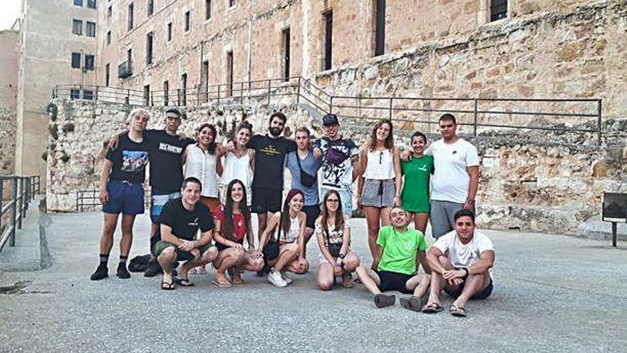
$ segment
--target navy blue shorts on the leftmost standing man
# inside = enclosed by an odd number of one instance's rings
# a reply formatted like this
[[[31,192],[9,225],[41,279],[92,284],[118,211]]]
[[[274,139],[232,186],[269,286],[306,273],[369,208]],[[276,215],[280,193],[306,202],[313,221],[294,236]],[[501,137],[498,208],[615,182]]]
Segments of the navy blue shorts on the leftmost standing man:
[[[144,213],[144,186],[141,183],[109,180],[109,202],[103,205],[104,213],[114,215],[141,215]]]

